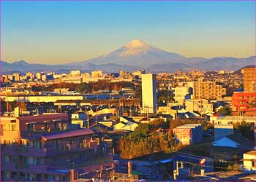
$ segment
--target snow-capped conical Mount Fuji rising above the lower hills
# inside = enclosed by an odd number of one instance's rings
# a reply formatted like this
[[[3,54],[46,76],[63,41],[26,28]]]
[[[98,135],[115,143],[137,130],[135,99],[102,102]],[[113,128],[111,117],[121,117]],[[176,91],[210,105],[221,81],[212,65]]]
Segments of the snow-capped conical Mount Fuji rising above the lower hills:
[[[140,68],[148,68],[154,64],[177,63],[185,59],[186,58],[177,53],[170,53],[165,50],[160,50],[159,48],[151,46],[150,44],[147,44],[140,39],[135,39],[129,41],[124,45],[124,47],[110,52],[107,55],[102,55],[99,58],[94,58],[78,63],[71,63],[69,66],[84,66],[86,63],[93,63],[96,65],[112,63],[125,66],[139,66]]]

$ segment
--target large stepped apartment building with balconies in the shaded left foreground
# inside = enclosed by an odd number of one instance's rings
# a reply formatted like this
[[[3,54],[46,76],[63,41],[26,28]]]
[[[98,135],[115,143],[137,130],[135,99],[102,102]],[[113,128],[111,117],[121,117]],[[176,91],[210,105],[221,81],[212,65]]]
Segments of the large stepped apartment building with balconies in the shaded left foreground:
[[[73,181],[113,166],[104,140],[89,128],[71,130],[67,114],[17,112],[1,117],[0,131],[1,181]]]

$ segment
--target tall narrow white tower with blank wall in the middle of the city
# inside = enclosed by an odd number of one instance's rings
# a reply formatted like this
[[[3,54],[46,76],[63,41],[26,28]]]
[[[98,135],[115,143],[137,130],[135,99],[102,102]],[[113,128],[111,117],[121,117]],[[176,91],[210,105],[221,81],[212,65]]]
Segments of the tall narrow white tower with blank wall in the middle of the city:
[[[142,74],[142,106],[143,113],[157,112],[157,76],[155,74]]]

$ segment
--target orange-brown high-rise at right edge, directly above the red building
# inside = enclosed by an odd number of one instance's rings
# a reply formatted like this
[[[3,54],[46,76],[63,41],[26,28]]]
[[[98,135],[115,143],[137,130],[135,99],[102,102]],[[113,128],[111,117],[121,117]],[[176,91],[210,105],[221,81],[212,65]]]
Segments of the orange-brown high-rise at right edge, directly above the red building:
[[[256,68],[244,68],[244,92],[256,92]]]

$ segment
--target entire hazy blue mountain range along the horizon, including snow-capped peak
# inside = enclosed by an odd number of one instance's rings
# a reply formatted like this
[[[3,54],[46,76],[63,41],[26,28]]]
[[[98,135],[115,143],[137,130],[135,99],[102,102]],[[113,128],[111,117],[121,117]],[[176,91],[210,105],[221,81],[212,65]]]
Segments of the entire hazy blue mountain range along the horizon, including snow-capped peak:
[[[178,69],[189,70],[230,70],[235,71],[241,67],[255,65],[256,57],[249,58],[185,58],[177,53],[160,50],[142,40],[129,41],[124,47],[119,48],[107,55],[90,60],[63,64],[44,65],[30,64],[24,60],[15,63],[1,61],[1,70],[6,71],[69,71],[79,69],[82,71],[102,70],[106,72],[135,71],[145,69],[147,72],[171,72]]]

